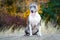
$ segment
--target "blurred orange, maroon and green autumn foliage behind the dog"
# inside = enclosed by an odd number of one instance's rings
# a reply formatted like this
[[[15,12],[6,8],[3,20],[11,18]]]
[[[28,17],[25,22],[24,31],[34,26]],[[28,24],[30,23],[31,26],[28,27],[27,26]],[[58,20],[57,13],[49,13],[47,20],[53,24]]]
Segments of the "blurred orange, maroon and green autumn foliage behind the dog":
[[[0,32],[9,29],[14,32],[26,27],[30,14],[29,4],[33,2],[38,4],[38,12],[45,22],[45,27],[48,28],[50,22],[52,27],[59,29],[60,0],[0,0]]]

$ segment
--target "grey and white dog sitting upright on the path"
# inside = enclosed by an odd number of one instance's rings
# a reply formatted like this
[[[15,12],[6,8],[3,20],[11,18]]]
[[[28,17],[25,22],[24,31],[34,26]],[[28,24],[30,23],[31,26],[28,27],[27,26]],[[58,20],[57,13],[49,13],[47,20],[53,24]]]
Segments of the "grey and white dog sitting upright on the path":
[[[41,16],[38,14],[38,6],[36,3],[31,3],[29,9],[30,14],[28,17],[25,34],[29,36],[38,34],[41,36]]]

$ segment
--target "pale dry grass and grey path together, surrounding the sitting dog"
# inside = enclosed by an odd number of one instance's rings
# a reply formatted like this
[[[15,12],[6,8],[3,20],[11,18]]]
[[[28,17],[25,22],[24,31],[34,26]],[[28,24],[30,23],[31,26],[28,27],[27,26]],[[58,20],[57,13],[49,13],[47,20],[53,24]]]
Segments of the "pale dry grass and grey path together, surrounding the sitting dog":
[[[53,28],[50,24],[48,29],[45,28],[42,22],[42,36],[24,36],[24,28],[20,31],[15,30],[11,33],[11,29],[6,32],[0,32],[0,40],[60,40],[60,32]]]

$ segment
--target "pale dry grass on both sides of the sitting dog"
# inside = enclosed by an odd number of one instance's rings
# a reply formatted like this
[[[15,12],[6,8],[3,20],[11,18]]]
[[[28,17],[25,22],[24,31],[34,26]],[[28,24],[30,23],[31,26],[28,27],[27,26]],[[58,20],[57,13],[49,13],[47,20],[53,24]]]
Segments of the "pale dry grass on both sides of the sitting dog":
[[[53,33],[57,33],[57,28],[54,28],[53,25],[49,22],[48,23],[48,28],[46,28],[45,26],[45,22],[42,21],[41,22],[41,26],[42,26],[42,35],[46,35],[46,34],[53,34]],[[6,30],[4,32],[0,32],[0,36],[20,36],[20,35],[24,35],[24,28],[21,28],[19,31],[18,29],[14,30],[14,32],[11,32],[12,31],[12,28],[14,27],[14,25],[11,26],[11,28],[9,30]]]

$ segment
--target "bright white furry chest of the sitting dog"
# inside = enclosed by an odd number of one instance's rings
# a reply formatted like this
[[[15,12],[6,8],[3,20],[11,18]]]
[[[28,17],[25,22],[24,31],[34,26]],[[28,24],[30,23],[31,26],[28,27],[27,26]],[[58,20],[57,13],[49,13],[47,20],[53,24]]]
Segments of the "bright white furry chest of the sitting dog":
[[[41,20],[41,17],[39,14],[36,15],[29,15],[29,23],[32,25],[37,25]]]

